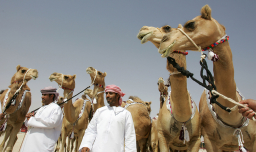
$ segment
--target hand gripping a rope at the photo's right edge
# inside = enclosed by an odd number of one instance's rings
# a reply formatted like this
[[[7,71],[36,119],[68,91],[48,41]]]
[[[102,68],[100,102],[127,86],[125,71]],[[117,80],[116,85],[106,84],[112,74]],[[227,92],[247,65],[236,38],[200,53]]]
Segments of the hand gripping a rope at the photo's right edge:
[[[238,112],[241,113],[242,116],[246,116],[247,118],[252,120],[252,116],[254,115],[254,112],[256,111],[256,100],[245,99],[245,100],[239,101],[238,103],[244,104],[245,106],[248,106],[249,108],[251,108],[249,110],[248,107],[238,106],[238,109],[239,109]],[[256,115],[254,115],[254,118],[256,118]]]

